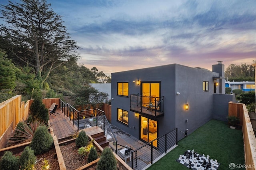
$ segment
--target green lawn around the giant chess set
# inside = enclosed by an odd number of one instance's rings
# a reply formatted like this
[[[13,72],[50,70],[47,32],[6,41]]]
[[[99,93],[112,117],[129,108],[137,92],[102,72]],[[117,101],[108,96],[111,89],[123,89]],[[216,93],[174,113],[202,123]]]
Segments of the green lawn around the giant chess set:
[[[226,122],[212,119],[180,140],[176,148],[150,166],[148,170],[188,170],[187,167],[175,161],[188,149],[209,155],[210,159],[217,159],[220,163],[218,170],[230,169],[228,165],[231,162],[245,164],[242,130],[231,129]]]

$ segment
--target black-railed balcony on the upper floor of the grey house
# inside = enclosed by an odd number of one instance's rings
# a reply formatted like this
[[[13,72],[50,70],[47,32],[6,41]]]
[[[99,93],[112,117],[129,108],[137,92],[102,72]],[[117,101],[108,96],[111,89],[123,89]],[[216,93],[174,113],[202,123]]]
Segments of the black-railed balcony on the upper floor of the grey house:
[[[154,118],[162,117],[164,116],[164,96],[130,95],[130,111]]]

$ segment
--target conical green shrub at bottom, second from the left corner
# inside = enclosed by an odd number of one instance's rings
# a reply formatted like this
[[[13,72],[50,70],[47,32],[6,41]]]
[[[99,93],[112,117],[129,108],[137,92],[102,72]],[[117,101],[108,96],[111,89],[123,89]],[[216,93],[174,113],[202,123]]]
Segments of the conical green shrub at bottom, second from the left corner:
[[[36,156],[34,154],[34,150],[27,146],[26,148],[24,148],[22,154],[20,155],[18,164],[20,165],[20,169],[22,170],[33,170],[35,161]]]

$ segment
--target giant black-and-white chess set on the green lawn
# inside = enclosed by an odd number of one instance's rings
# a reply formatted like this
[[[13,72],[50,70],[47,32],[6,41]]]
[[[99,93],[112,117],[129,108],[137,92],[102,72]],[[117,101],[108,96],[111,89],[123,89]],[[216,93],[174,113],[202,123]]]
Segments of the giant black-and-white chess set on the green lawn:
[[[176,161],[192,170],[217,170],[220,166],[216,159],[200,155],[194,150],[187,150]]]

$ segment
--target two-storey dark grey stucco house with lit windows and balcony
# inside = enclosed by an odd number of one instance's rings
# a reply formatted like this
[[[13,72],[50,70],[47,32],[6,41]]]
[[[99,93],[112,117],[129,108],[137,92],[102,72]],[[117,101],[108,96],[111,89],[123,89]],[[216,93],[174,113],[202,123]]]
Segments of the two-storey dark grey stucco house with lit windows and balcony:
[[[180,140],[211,119],[227,121],[228,102],[235,102],[225,95],[221,62],[212,71],[170,64],[111,77],[112,124],[144,142],[174,128]]]

